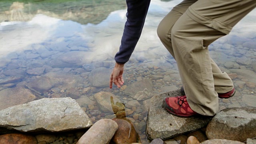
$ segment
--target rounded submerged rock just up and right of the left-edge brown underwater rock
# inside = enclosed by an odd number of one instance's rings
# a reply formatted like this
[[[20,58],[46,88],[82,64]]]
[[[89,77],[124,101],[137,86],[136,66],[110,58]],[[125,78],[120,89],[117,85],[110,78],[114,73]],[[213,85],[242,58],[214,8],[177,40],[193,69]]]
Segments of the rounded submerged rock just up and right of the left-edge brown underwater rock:
[[[53,84],[52,80],[49,77],[43,76],[32,82],[29,82],[27,86],[39,92],[46,92],[52,88]]]

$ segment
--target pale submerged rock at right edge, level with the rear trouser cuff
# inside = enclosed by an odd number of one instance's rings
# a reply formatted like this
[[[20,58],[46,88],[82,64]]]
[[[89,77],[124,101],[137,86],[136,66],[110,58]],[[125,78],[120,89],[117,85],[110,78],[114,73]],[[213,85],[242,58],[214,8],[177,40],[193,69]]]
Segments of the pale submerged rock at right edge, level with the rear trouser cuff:
[[[252,70],[242,70],[242,69],[230,69],[232,73],[244,76],[249,80],[249,82],[256,82],[256,73]]]

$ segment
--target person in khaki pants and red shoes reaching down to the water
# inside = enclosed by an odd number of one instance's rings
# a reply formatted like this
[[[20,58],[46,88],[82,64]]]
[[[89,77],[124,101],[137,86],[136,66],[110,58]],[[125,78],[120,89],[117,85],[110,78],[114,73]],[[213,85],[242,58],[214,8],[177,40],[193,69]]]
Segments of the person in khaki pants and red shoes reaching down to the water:
[[[127,21],[116,64],[110,75],[117,87],[124,84],[124,64],[140,38],[150,0],[126,0]],[[232,27],[256,7],[256,0],[183,0],[160,22],[157,34],[172,54],[182,80],[182,95],[164,99],[164,107],[175,116],[214,116],[218,97],[234,95],[234,85],[210,58],[208,46],[228,34]]]

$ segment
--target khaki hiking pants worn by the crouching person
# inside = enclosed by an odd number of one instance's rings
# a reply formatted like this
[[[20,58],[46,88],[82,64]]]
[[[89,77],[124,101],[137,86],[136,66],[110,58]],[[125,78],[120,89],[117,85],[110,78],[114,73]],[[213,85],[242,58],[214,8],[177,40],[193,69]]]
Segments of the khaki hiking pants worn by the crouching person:
[[[210,58],[208,46],[225,36],[256,7],[256,0],[184,0],[158,26],[158,36],[175,58],[188,104],[195,112],[212,116],[218,111],[218,93],[233,82]]]

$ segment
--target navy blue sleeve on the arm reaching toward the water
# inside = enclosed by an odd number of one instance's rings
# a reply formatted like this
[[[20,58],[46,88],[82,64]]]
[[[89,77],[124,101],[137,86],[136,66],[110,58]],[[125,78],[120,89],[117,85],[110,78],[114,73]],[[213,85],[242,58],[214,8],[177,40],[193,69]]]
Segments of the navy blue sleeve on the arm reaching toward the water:
[[[116,62],[122,64],[128,62],[140,38],[150,0],[126,0],[126,4],[127,20],[124,26],[121,46],[115,56]]]

